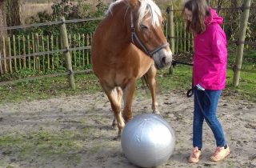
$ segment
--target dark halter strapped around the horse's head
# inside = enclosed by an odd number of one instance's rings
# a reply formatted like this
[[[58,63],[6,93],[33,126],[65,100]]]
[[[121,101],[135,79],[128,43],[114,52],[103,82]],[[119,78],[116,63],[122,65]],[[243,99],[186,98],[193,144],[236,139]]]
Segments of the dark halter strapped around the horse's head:
[[[162,50],[166,46],[170,46],[170,44],[168,42],[166,42],[165,44],[162,44],[161,46],[158,46],[154,50],[151,50],[151,51],[147,50],[146,46],[143,45],[141,39],[139,39],[138,35],[136,34],[135,26],[134,26],[134,16],[133,16],[132,12],[130,12],[130,29],[131,29],[131,42],[135,45],[135,43],[134,43],[134,39],[135,39],[138,42],[139,46],[141,46],[142,49],[146,52],[146,54],[150,55],[150,57],[152,57],[153,54],[155,54],[159,50]]]

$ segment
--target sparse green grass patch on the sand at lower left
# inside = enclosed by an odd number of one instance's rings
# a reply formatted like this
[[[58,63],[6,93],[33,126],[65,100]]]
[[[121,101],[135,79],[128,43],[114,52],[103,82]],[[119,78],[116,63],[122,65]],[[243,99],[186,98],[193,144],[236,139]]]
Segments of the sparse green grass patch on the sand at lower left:
[[[74,130],[58,132],[38,131],[24,133],[4,134],[0,137],[2,154],[17,157],[19,160],[28,160],[34,157],[52,159],[69,158],[78,162],[78,151],[83,150],[82,134],[77,135]]]

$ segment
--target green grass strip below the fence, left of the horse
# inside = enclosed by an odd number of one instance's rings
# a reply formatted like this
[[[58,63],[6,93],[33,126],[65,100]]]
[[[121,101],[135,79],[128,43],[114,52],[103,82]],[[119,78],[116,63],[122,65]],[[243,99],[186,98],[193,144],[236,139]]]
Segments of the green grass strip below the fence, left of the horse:
[[[60,76],[0,86],[1,95],[5,95],[0,98],[0,103],[93,94],[101,90],[94,74],[76,75],[75,84],[76,90],[70,89],[66,76]]]

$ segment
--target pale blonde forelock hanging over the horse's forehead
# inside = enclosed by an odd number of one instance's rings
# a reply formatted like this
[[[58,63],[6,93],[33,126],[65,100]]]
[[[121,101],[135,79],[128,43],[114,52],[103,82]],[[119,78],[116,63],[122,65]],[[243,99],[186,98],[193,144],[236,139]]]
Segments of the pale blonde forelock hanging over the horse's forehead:
[[[151,24],[153,26],[160,26],[160,19],[162,18],[161,10],[152,0],[138,0],[140,7],[138,9],[138,26],[142,23],[146,14],[150,14]]]

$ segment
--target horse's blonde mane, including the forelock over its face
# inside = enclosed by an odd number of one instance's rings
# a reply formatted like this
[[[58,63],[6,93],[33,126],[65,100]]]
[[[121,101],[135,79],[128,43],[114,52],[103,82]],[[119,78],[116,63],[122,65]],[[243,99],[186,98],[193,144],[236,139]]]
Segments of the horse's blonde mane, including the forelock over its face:
[[[127,6],[130,6],[129,0],[118,0],[110,4],[106,14],[112,14],[111,9],[120,2],[126,2]],[[142,23],[146,14],[150,14],[150,18],[147,19],[151,19],[153,26],[160,26],[159,18],[162,18],[162,13],[158,6],[152,0],[138,0],[138,2],[140,2],[138,8],[138,26]]]

